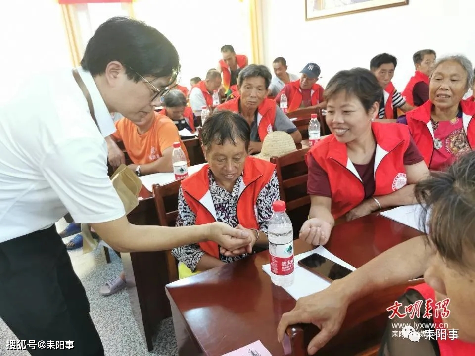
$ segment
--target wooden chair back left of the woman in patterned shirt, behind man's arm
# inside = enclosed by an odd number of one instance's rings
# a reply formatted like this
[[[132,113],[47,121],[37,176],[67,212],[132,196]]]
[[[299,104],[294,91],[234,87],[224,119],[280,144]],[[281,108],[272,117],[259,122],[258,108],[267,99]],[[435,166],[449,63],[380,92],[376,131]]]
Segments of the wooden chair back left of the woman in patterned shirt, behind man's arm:
[[[178,192],[181,180],[159,185],[153,184],[153,196],[157,208],[158,221],[161,226],[175,226],[178,217]],[[178,261],[173,257],[171,250],[166,251],[168,277],[170,282],[178,280]]]

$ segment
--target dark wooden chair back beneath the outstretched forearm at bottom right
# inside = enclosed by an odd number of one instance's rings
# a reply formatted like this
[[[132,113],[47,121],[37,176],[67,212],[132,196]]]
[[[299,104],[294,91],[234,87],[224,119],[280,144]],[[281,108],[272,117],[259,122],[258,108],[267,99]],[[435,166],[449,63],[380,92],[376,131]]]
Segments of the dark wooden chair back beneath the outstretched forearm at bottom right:
[[[317,355],[376,356],[389,320],[386,308],[394,304],[407,287],[424,283],[423,278],[398,284],[363,297],[352,303],[343,325]],[[292,356],[307,356],[310,340],[320,330],[313,324],[296,324],[287,328]]]

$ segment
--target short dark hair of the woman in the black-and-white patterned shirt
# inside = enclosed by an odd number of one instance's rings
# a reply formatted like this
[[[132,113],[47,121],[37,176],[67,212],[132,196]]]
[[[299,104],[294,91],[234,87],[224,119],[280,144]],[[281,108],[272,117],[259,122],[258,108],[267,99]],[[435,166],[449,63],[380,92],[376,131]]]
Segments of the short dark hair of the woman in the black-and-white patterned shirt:
[[[217,110],[204,122],[200,136],[206,150],[209,150],[213,143],[221,146],[226,141],[236,146],[237,140],[241,139],[247,152],[251,141],[251,128],[241,114],[229,110]]]

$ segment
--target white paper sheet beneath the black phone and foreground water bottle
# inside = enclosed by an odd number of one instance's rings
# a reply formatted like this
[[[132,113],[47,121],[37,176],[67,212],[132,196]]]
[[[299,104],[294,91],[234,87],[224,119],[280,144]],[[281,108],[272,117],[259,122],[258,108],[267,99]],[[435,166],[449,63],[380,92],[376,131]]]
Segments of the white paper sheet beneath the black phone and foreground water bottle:
[[[356,268],[351,266],[350,264],[346,263],[342,259],[336,257],[333,255],[330,251],[328,251],[325,247],[319,246],[316,249],[308,252],[304,252],[300,255],[296,255],[294,257],[294,281],[293,284],[290,287],[284,287],[285,291],[290,294],[295,300],[298,300],[299,298],[306,297],[310,294],[320,292],[327,288],[330,283],[326,281],[325,279],[313,274],[312,272],[309,272],[303,267],[300,267],[298,265],[298,261],[303,259],[304,257],[307,257],[311,254],[318,253],[319,255],[328,258],[329,260],[332,260],[333,262],[336,262],[337,264],[346,267],[348,269],[351,269],[352,271],[355,270]],[[264,269],[264,272],[271,275],[271,265],[263,265],[262,269]]]

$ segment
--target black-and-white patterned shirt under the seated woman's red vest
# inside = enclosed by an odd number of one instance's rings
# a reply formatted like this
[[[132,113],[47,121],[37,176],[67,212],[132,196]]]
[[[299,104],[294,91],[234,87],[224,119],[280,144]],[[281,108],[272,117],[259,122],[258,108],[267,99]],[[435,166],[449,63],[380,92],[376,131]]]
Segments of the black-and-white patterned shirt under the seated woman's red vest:
[[[238,223],[241,223],[244,227],[246,222],[238,222],[237,208],[239,198],[239,185],[242,181],[242,174],[236,179],[233,190],[227,191],[216,182],[211,170],[208,170],[209,177],[209,191],[211,198],[213,199],[214,207],[216,209],[217,221],[227,223],[230,226],[236,227]],[[259,230],[267,233],[269,219],[272,215],[272,203],[280,199],[279,194],[279,181],[277,174],[274,171],[269,183],[262,188],[257,197],[257,224]],[[250,209],[253,209],[250,207]],[[178,193],[178,217],[177,226],[192,226],[196,223],[196,215],[191,210],[190,206],[185,201],[183,196],[183,190],[180,188]],[[196,265],[199,260],[205,254],[199,248],[198,244],[191,244],[174,248],[172,250],[173,256],[181,262],[183,262],[192,272],[196,270]],[[219,254],[219,259],[224,262],[233,262],[247,257],[249,254],[243,254],[240,256],[224,256]]]

